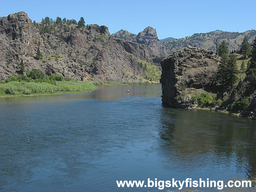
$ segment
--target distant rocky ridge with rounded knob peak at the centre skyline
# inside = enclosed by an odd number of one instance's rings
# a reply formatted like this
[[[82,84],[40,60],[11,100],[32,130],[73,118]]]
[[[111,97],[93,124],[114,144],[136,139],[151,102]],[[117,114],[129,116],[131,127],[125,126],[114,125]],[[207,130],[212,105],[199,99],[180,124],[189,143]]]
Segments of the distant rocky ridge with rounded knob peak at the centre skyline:
[[[112,34],[112,37],[144,44],[151,49],[155,56],[160,58],[166,57],[172,53],[166,45],[158,39],[156,30],[151,26],[148,26],[142,32],[139,32],[138,35],[134,35],[122,29],[119,32]]]

